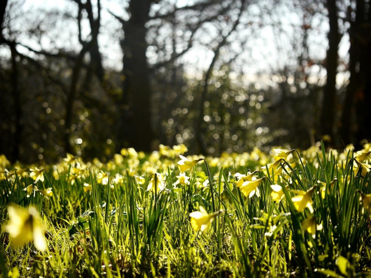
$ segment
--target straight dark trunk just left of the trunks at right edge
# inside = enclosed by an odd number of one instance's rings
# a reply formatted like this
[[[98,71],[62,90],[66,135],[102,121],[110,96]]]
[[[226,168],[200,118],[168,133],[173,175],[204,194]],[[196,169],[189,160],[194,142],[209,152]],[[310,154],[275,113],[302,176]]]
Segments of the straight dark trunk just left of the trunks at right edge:
[[[336,107],[336,69],[338,67],[338,47],[340,43],[338,15],[335,0],[328,0],[326,4],[330,30],[328,32],[328,50],[326,56],[326,85],[322,102],[321,133],[330,135],[334,142],[334,119]]]

